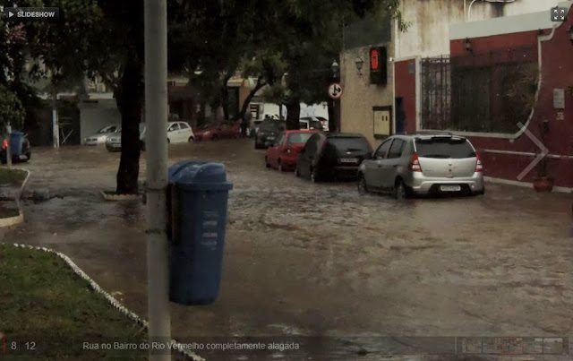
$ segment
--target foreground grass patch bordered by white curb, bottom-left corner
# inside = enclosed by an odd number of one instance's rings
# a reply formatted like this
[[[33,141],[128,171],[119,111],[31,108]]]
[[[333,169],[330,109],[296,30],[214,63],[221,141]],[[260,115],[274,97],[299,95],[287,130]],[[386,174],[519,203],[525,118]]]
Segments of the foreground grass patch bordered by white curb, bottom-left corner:
[[[145,350],[114,349],[115,342],[140,345],[147,331],[109,305],[56,254],[0,245],[0,284],[0,331],[6,340],[1,359],[148,358]],[[18,351],[11,350],[14,341]],[[32,342],[35,349],[27,350]],[[84,342],[111,343],[112,348],[84,349]]]

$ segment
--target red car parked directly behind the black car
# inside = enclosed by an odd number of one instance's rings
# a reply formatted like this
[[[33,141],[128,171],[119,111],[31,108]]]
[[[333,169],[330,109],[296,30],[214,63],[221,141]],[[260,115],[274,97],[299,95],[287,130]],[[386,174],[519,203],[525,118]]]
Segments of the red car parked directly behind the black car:
[[[267,149],[265,165],[267,168],[276,168],[280,171],[294,170],[296,157],[303,149],[304,143],[319,130],[291,130],[278,134],[277,142]]]

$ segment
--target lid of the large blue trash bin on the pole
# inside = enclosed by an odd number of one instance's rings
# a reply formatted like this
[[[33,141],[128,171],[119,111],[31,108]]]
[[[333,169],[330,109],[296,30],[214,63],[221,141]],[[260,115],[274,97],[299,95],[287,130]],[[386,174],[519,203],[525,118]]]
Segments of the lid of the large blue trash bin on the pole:
[[[169,183],[186,190],[233,189],[233,184],[227,182],[227,172],[222,163],[183,160],[169,167],[168,177]]]

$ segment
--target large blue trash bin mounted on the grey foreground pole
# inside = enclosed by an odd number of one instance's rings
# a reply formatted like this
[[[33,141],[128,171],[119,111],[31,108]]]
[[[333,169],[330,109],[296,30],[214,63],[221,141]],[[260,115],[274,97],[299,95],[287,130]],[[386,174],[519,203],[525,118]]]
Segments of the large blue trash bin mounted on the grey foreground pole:
[[[220,163],[185,160],[168,176],[169,299],[209,305],[218,297],[233,185]]]

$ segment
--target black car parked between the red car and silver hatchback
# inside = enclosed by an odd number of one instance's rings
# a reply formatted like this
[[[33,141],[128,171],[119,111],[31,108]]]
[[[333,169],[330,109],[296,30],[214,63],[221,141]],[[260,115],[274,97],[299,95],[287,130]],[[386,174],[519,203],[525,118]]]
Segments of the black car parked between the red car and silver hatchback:
[[[362,134],[316,133],[304,145],[296,161],[296,176],[312,182],[335,178],[355,179],[372,147]]]

